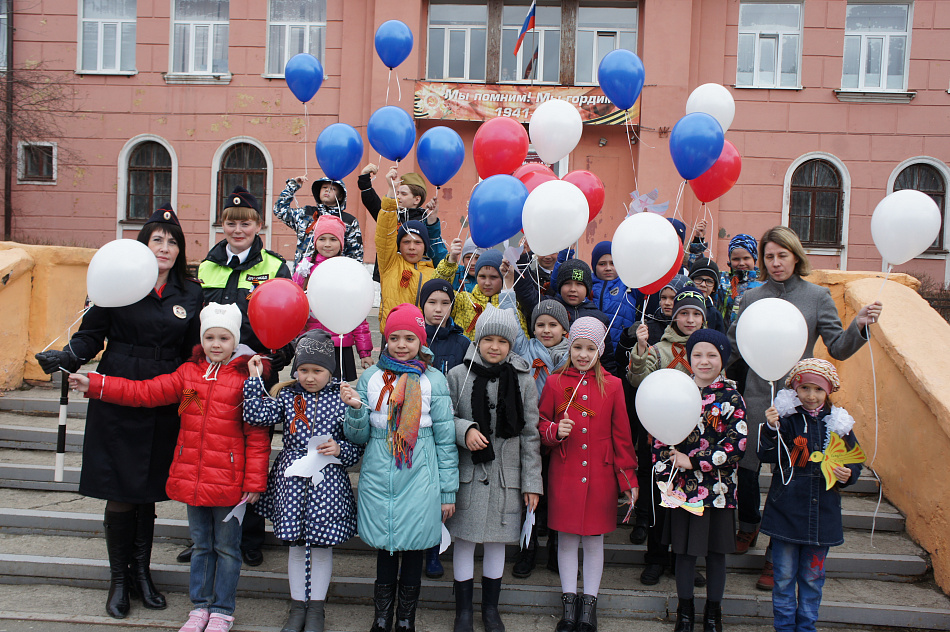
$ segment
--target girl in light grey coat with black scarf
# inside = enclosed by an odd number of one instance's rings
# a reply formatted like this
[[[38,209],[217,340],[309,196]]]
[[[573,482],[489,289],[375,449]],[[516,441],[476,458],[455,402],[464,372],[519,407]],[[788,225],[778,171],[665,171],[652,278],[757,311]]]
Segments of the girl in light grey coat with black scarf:
[[[489,305],[475,325],[475,345],[449,371],[459,445],[459,491],[446,526],[455,539],[455,632],[472,631],[475,545],[484,548],[482,622],[504,632],[498,614],[505,544],[518,541],[521,508],[541,496],[538,391],[531,366],[512,353],[520,325]]]

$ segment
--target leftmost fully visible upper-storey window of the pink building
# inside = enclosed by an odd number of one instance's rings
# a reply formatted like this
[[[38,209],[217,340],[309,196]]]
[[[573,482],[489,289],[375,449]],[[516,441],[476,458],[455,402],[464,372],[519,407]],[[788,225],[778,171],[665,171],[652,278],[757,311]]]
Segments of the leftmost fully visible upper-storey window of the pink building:
[[[80,70],[135,71],[136,0],[82,0]]]

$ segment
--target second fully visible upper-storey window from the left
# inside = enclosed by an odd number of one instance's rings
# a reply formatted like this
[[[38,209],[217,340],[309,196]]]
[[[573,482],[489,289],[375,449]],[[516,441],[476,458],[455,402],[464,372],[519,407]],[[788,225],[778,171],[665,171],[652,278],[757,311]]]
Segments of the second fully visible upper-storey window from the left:
[[[175,0],[172,72],[228,72],[228,0]]]

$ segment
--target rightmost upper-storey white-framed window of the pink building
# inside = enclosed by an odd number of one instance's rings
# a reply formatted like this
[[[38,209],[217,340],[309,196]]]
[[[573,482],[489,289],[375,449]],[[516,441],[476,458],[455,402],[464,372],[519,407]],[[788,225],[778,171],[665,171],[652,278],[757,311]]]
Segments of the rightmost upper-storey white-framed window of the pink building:
[[[843,90],[904,90],[909,52],[909,5],[848,3]]]

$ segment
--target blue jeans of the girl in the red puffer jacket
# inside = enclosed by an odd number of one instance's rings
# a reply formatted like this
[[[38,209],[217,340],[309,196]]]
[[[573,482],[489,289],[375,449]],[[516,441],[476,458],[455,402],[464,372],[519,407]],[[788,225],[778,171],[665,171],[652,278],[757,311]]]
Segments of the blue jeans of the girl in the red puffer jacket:
[[[237,582],[241,577],[241,524],[222,522],[231,507],[188,505],[188,530],[195,546],[191,553],[188,592],[195,608],[234,614]]]

